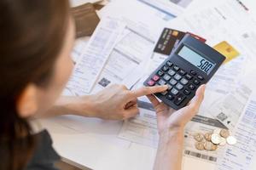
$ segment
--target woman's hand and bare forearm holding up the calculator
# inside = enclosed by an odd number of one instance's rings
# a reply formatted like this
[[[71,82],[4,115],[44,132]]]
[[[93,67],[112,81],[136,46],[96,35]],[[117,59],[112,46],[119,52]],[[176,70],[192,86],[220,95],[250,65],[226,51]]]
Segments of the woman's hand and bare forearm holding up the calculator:
[[[160,140],[154,170],[181,170],[183,156],[183,129],[187,122],[199,110],[203,100],[205,85],[197,89],[195,97],[189,105],[178,111],[174,111],[167,105],[159,102],[153,95],[148,99],[154,105],[157,114],[157,123]]]

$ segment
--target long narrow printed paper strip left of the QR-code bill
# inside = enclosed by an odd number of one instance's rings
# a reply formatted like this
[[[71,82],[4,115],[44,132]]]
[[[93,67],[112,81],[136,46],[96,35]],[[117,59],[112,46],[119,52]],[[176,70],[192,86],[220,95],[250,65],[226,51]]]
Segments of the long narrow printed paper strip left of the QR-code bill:
[[[119,20],[102,19],[90,38],[90,42],[79,56],[73,70],[73,76],[67,83],[69,91],[75,95],[90,93],[113,50],[115,42],[124,29],[125,24]]]

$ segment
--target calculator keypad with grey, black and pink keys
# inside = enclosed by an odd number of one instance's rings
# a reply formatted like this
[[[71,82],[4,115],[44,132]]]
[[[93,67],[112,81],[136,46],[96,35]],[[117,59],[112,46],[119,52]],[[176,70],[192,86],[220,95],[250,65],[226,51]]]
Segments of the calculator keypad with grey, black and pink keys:
[[[173,65],[171,61],[161,67],[156,75],[148,79],[148,86],[167,85],[168,89],[160,93],[175,105],[181,105],[189,95],[194,93],[201,85],[204,77],[196,71],[183,71],[178,65]]]

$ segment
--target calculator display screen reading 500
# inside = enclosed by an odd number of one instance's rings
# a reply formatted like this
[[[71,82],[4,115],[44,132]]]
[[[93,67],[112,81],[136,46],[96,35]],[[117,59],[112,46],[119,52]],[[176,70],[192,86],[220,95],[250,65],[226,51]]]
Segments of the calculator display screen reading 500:
[[[179,50],[177,54],[207,74],[209,74],[216,65],[215,63],[212,63],[208,59],[202,57],[201,54],[195,53],[194,50],[188,48],[185,45]]]

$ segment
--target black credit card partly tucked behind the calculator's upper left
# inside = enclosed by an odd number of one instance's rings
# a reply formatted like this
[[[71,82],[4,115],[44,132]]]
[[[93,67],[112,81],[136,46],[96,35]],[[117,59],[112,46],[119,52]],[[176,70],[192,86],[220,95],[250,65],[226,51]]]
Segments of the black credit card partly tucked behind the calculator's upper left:
[[[185,32],[183,31],[165,28],[155,45],[154,52],[170,55],[172,53],[172,49],[175,48],[177,43],[180,42],[184,36]]]

